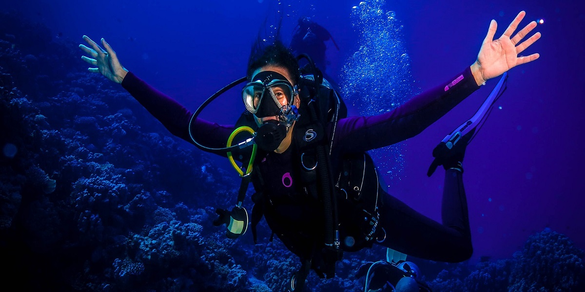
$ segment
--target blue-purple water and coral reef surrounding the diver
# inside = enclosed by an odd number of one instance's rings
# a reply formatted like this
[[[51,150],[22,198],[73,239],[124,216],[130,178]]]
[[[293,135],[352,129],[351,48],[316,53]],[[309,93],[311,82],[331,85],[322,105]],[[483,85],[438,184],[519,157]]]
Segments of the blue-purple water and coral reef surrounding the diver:
[[[0,8],[2,283],[43,291],[283,291],[300,262],[264,221],[259,244],[214,227],[233,205],[229,163],[173,137],[99,74],[77,47],[104,37],[122,65],[191,110],[245,75],[259,32],[284,15],[331,33],[326,74],[349,114],[393,109],[476,60],[519,11],[543,20],[507,91],[467,148],[464,183],[474,253],[458,264],[409,258],[433,291],[585,291],[585,11],[576,1],[11,1]],[[265,20],[268,20],[265,22]],[[432,149],[469,119],[487,82],[422,134],[376,150],[389,192],[441,220]],[[202,117],[233,123],[239,89]],[[247,200],[249,206],[252,202]],[[246,203],[245,203],[246,204]],[[399,237],[400,234],[391,236]],[[345,253],[312,291],[360,291],[353,274],[385,258]]]

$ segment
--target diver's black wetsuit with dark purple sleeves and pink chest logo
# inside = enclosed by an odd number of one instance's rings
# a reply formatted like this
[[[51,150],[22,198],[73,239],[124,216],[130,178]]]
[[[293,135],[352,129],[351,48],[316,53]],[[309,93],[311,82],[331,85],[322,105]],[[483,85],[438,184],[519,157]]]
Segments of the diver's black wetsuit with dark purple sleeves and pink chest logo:
[[[147,85],[132,72],[128,72],[122,86],[172,134],[191,142],[188,125],[192,112]],[[336,126],[328,124],[326,134],[329,138],[333,136],[332,140],[328,140],[332,141],[329,145],[332,169],[338,168],[343,155],[385,147],[414,137],[478,88],[467,68],[445,84],[415,96],[391,112],[370,117],[347,117],[340,119]],[[213,148],[225,147],[234,130],[233,126],[220,126],[202,119],[196,119],[191,128],[197,141]],[[283,241],[319,240],[323,237],[324,226],[322,206],[303,192],[298,169],[293,162],[294,150],[295,145],[291,145],[282,154],[271,152],[257,158],[264,180],[264,189],[259,191],[273,204],[264,216],[274,234]],[[379,186],[378,192],[382,200],[379,228],[384,228],[387,234],[381,245],[441,262],[460,262],[470,258],[472,242],[462,173],[453,169],[446,171],[442,224],[408,207]],[[339,214],[340,222],[355,219],[344,215]]]

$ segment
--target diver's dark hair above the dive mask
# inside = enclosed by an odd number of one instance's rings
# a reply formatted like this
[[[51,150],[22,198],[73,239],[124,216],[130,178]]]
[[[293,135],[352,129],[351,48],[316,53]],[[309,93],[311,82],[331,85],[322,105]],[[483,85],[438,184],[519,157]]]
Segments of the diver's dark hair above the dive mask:
[[[275,65],[285,68],[292,78],[292,82],[298,84],[298,79],[300,78],[298,61],[291,50],[278,39],[269,45],[266,45],[266,42],[266,40],[259,38],[252,46],[246,74],[248,80],[252,79],[252,74],[256,69],[266,65]]]

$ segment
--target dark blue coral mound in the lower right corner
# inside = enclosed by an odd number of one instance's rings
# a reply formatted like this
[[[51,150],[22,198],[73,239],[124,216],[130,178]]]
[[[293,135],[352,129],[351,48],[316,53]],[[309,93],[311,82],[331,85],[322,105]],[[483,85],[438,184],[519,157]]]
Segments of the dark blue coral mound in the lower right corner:
[[[583,291],[583,250],[549,228],[531,235],[512,259],[485,261],[467,272],[443,270],[432,290],[462,292]]]

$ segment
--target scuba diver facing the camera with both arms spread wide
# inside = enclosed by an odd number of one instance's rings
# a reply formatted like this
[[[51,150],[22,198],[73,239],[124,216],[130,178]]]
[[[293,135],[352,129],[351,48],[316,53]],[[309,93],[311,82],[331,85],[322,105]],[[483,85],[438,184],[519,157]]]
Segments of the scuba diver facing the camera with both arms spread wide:
[[[309,60],[309,69],[300,68],[278,38],[271,44],[257,41],[246,77],[230,85],[246,82],[241,97],[245,111],[232,126],[197,117],[230,86],[191,112],[125,69],[104,39],[102,48],[83,36],[89,47],[80,48],[89,56],[82,60],[93,66],[90,72],[121,84],[170,133],[232,161],[242,177],[238,200],[232,210],[217,208],[214,224],[225,224],[226,235],[238,238],[250,221],[256,242],[255,225],[264,217],[273,235],[300,258],[290,290],[302,291],[311,270],[331,278],[343,252],[373,244],[440,262],[472,256],[462,161],[476,130],[473,123],[465,132],[449,135],[442,151],[433,151],[433,165],[445,169],[442,223],[388,194],[366,151],[414,137],[488,79],[536,60],[538,54],[518,56],[541,36],[535,33],[522,41],[536,22],[512,37],[524,16],[520,12],[497,40],[497,24],[491,20],[477,60],[453,78],[391,112],[364,117],[346,117],[338,93],[324,85],[311,58],[301,55]],[[251,217],[243,204],[249,182],[256,192]]]

